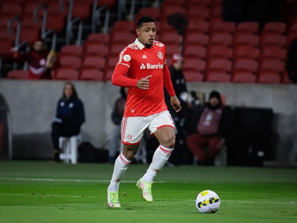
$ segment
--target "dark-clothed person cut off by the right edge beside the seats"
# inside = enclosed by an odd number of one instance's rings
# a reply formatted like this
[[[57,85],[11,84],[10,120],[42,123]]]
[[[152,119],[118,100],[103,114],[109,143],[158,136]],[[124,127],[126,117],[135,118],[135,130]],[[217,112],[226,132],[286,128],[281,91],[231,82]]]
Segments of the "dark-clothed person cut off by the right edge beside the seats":
[[[287,72],[289,79],[297,83],[297,38],[293,39],[287,55]]]

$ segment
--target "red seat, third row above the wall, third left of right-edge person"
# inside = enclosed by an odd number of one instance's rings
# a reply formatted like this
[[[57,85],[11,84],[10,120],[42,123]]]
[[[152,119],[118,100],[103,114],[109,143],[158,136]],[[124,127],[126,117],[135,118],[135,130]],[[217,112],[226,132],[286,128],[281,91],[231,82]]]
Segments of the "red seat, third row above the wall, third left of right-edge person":
[[[209,43],[206,51],[207,58],[222,58],[222,59],[232,59],[233,49],[227,47],[221,43],[211,44]]]

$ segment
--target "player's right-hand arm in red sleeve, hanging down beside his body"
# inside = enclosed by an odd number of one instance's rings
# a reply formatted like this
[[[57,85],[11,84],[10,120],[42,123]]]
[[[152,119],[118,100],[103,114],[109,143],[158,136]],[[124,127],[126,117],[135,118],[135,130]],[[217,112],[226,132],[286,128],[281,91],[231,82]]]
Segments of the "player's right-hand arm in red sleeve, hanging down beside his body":
[[[164,68],[163,68],[163,84],[170,95],[170,104],[172,106],[172,109],[176,112],[181,111],[182,110],[181,103],[175,95],[171,78],[170,78],[170,72],[166,64],[164,64]]]

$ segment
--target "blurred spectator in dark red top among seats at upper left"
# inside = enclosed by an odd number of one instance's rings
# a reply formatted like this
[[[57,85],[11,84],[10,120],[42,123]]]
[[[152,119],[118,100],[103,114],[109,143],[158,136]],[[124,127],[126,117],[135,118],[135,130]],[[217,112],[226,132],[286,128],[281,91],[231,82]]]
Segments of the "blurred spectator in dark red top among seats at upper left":
[[[50,79],[50,70],[56,61],[56,53],[47,51],[43,39],[37,39],[29,52],[19,53],[12,49],[13,58],[16,62],[28,61],[28,79]]]

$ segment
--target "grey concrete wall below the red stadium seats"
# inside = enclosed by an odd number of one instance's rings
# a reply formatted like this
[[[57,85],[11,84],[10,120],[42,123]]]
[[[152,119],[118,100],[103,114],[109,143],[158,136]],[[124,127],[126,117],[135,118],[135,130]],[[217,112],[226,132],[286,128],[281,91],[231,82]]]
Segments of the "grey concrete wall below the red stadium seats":
[[[119,87],[108,82],[73,81],[85,106],[82,137],[97,148],[106,148],[112,130],[110,113]],[[11,116],[14,158],[52,157],[50,124],[65,81],[0,79],[0,94]],[[189,90],[208,93],[216,89],[231,107],[269,108],[276,114],[279,139],[276,160],[295,162],[297,154],[297,86],[290,84],[188,83]],[[206,100],[208,98],[206,97]],[[294,149],[293,149],[294,148]]]

